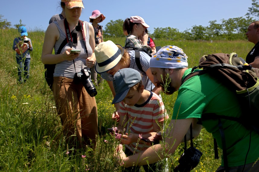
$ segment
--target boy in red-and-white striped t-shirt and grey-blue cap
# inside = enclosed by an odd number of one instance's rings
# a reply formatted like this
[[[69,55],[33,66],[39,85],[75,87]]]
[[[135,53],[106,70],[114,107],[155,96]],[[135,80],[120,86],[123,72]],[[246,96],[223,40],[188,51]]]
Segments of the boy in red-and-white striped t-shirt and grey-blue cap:
[[[143,142],[137,144],[139,136],[148,138],[154,135],[160,131],[164,119],[168,118],[162,100],[157,94],[144,89],[140,73],[132,68],[118,70],[113,76],[113,86],[116,95],[112,104],[121,102],[118,129],[126,129],[121,139],[126,146],[126,154],[146,150],[150,145]],[[155,163],[149,166],[156,171]],[[143,167],[148,171],[148,165]]]

